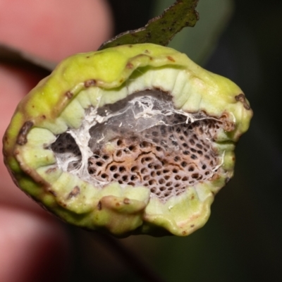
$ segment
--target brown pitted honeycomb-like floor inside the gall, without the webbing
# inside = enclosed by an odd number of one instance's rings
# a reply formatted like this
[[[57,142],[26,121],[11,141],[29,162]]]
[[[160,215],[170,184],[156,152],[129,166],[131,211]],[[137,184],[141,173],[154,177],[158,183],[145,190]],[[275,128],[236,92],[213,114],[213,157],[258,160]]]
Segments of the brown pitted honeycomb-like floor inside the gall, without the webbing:
[[[207,118],[185,123],[185,118],[169,116],[166,123],[171,125],[117,136],[94,151],[88,172],[106,183],[147,186],[164,201],[180,195],[189,185],[209,179],[219,164],[211,140],[221,122]]]

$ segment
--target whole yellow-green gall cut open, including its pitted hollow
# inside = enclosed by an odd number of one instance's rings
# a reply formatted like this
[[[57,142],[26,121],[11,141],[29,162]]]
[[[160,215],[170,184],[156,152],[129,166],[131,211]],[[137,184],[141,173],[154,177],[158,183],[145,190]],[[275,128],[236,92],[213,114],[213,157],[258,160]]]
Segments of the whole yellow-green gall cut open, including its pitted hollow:
[[[188,235],[233,176],[252,110],[242,90],[155,44],[71,56],[20,102],[4,161],[68,223]]]

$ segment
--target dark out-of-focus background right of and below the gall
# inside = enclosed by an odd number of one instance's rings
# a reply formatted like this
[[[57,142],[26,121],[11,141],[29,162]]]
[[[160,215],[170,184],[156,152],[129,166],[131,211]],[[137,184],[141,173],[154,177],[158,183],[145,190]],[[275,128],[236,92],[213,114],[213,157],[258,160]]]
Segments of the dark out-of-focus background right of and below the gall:
[[[115,35],[174,2],[108,1]],[[66,281],[282,281],[282,1],[200,0],[197,11],[196,26],[170,46],[233,80],[250,101],[255,115],[236,149],[235,176],[207,224],[185,238],[112,240],[67,226],[75,250]],[[143,266],[159,280],[142,277]]]

